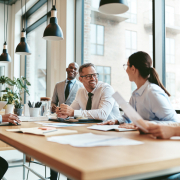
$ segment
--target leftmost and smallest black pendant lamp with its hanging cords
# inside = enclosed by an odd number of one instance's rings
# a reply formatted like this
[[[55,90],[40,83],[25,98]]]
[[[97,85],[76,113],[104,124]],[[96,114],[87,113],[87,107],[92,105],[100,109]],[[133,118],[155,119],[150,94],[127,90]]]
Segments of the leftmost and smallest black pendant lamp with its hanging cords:
[[[0,62],[3,62],[3,63],[9,63],[11,62],[11,57],[10,55],[8,54],[8,51],[7,51],[7,27],[8,27],[8,4],[7,4],[7,20],[6,20],[6,27],[5,27],[5,0],[4,0],[4,47],[3,47],[3,53],[1,54],[0,56]],[[6,28],[6,30],[5,30]],[[5,32],[6,32],[6,35],[5,35]],[[6,39],[5,39],[6,37]]]

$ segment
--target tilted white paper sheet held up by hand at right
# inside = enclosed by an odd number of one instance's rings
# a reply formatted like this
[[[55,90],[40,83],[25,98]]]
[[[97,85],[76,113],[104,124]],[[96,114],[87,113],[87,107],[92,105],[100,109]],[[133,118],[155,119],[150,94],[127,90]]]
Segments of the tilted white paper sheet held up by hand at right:
[[[141,130],[148,133],[148,124],[143,120],[143,118],[133,109],[133,107],[127,103],[124,98],[118,93],[115,92],[112,97],[116,100],[116,102],[121,106],[124,113],[128,116],[128,118]]]

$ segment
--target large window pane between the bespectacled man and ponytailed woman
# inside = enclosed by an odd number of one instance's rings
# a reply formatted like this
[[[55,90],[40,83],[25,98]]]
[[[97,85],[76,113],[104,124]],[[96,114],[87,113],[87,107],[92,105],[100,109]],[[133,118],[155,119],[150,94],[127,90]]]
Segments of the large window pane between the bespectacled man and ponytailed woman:
[[[99,80],[110,83],[115,91],[119,91],[126,101],[129,101],[134,86],[129,81],[123,64],[126,64],[128,57],[136,51],[150,53],[149,35],[153,34],[153,18],[147,22],[148,24],[143,19],[146,14],[147,18],[152,16],[152,3],[150,0],[129,1],[131,3],[129,12],[133,17],[131,18],[127,13],[118,15],[100,13],[97,10],[99,0],[83,2],[84,5],[80,8],[84,7],[82,10],[84,12],[84,17],[82,17],[84,31],[80,34],[81,29],[77,30],[76,39],[78,40],[81,36],[84,44],[81,49],[78,46],[78,50],[81,51],[77,51],[76,55],[81,54],[82,63],[93,63],[100,73]],[[139,5],[138,9],[137,4]],[[79,11],[76,12],[79,17]],[[135,24],[126,23],[128,18]],[[77,18],[77,24],[79,24],[79,18]],[[106,73],[105,67],[109,67],[108,71],[111,70],[111,73]]]

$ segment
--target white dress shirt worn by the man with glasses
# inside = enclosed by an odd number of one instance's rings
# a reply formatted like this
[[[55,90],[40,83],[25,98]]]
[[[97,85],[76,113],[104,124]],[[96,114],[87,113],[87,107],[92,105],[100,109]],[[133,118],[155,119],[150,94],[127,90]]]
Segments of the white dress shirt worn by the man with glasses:
[[[78,90],[76,98],[71,104],[71,107],[75,110],[75,117],[81,116],[103,121],[121,119],[119,106],[112,97],[114,90],[109,84],[99,81],[91,93],[94,94],[92,96],[92,107],[91,110],[86,110],[88,92],[84,87]]]

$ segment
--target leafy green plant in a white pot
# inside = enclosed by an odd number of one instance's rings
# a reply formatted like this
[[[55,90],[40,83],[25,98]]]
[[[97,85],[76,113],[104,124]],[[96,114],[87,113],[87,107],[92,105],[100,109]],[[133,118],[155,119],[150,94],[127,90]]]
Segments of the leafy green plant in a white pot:
[[[28,95],[30,95],[28,86],[30,86],[31,84],[23,76],[21,78],[13,78],[13,80],[10,79],[9,77],[1,76],[0,83],[2,85],[4,85],[4,84],[8,85],[8,87],[6,87],[4,90],[1,91],[1,92],[5,93],[5,94],[3,94],[1,99],[2,99],[2,101],[7,101],[7,105],[5,106],[5,113],[6,114],[12,113],[13,107],[14,107],[14,105],[13,105],[14,102],[22,101],[21,94],[26,92]]]

